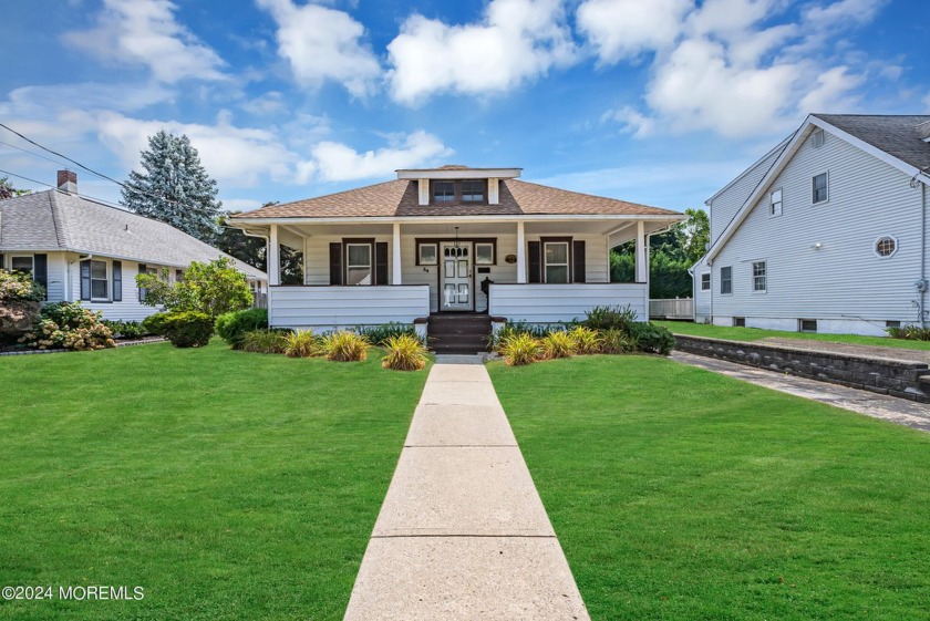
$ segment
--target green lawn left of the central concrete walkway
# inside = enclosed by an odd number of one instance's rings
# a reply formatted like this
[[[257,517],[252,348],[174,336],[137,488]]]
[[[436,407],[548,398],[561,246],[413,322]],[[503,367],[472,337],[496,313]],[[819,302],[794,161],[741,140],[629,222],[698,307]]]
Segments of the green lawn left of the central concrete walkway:
[[[426,373],[168,344],[0,358],[0,619],[342,619]]]

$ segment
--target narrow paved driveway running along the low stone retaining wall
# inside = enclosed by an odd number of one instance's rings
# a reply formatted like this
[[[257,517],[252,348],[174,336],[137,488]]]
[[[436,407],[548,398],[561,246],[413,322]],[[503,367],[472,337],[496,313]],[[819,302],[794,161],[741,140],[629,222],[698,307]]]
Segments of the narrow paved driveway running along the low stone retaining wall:
[[[746,366],[744,364],[736,364],[735,362],[726,362],[680,351],[673,351],[671,358],[684,364],[700,366],[701,369],[736,377],[737,380],[743,380],[760,386],[819,401],[843,407],[844,410],[865,414],[872,418],[881,418],[899,425],[930,432],[930,405],[926,403],[914,403],[893,396],[847,389],[837,384],[807,380],[796,375],[787,375],[785,373],[766,371],[764,369],[756,369],[755,366]]]

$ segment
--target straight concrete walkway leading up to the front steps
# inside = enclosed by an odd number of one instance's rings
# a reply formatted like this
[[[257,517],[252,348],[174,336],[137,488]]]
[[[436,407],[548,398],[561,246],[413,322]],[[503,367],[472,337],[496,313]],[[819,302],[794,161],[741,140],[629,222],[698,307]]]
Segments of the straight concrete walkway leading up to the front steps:
[[[437,356],[345,619],[589,619],[477,356]]]

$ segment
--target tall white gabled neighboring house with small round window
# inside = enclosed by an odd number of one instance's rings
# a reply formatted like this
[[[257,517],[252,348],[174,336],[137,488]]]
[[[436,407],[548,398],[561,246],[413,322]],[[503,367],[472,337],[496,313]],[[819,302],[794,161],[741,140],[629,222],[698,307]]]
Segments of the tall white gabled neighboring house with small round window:
[[[695,321],[884,335],[928,320],[930,115],[812,114],[707,199]]]

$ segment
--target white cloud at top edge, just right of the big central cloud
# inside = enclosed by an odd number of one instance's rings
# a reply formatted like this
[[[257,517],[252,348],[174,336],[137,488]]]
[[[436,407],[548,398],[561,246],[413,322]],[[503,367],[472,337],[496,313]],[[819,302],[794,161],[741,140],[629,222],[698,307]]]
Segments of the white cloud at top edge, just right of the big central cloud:
[[[691,0],[588,0],[578,7],[578,29],[602,62],[613,63],[675,42]]]

